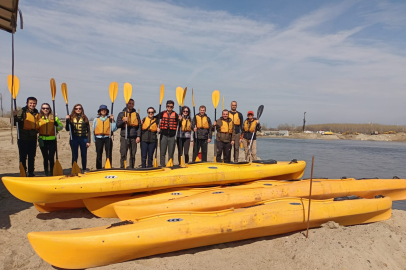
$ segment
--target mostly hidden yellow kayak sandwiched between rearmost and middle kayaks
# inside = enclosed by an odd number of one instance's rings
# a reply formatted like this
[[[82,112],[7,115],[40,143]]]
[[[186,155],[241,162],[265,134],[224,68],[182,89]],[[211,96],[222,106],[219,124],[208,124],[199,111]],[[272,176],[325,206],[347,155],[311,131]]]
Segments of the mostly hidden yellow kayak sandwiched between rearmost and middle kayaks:
[[[280,180],[259,180],[255,182],[243,183],[241,185],[231,185],[224,187],[206,187],[206,188],[174,188],[170,190],[158,190],[153,192],[144,192],[136,194],[119,194],[112,196],[96,197],[83,199],[86,208],[95,216],[102,218],[118,218],[115,206],[136,206],[136,205],[154,205],[166,203],[179,198],[189,197],[207,191],[220,192],[227,189],[248,189],[262,188],[266,186],[276,186],[289,184],[288,181]]]

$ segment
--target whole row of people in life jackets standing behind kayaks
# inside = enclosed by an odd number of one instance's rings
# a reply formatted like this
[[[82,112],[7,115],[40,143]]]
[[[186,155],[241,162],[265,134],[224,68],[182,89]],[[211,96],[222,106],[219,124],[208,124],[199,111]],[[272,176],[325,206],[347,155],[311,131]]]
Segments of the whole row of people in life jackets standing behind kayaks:
[[[37,140],[44,158],[45,174],[52,175],[55,164],[56,135],[63,129],[61,121],[56,117],[48,103],[41,105],[40,111],[36,109],[37,99],[27,98],[26,106],[14,111],[14,120],[18,125],[18,147],[20,162],[28,176],[34,176],[34,161],[36,156]],[[96,146],[96,168],[102,169],[103,149],[106,158],[112,162],[113,141],[112,134],[120,131],[120,168],[134,168],[137,144],[141,148],[141,166],[153,166],[154,154],[159,142],[160,166],[166,165],[172,159],[175,147],[178,149],[178,162],[181,163],[182,154],[185,163],[194,162],[200,154],[201,161],[207,161],[208,144],[216,132],[216,161],[231,162],[231,152],[234,148],[234,162],[238,162],[239,144],[242,144],[245,155],[252,139],[251,159],[256,160],[256,131],[261,129],[254,113],[249,111],[247,118],[237,111],[237,102],[231,102],[231,110],[223,110],[219,119],[213,123],[206,114],[206,106],[199,107],[199,113],[191,117],[190,108],[182,107],[181,114],[174,111],[175,103],[166,102],[166,110],[156,114],[153,107],[147,109],[147,116],[143,119],[134,109],[134,100],[130,99],[126,107],[118,114],[115,121],[109,115],[106,105],[101,105],[97,111],[97,118],[93,121],[93,132],[90,128],[89,118],[85,115],[83,106],[76,104],[71,114],[66,116],[65,129],[70,132],[70,146],[72,150],[72,164],[77,162],[79,149],[81,154],[82,171],[86,170],[87,149],[91,138]],[[193,147],[192,160],[189,150]],[[126,164],[127,155],[129,164]],[[28,167],[27,167],[28,158]]]

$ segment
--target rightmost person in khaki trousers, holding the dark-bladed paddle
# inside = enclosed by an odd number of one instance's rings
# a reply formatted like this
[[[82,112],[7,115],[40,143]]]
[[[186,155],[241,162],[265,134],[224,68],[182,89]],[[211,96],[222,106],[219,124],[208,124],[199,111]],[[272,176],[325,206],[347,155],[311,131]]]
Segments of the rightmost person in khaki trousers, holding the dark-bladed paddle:
[[[257,160],[257,135],[256,132],[261,130],[261,125],[259,121],[254,118],[254,112],[249,111],[247,114],[247,119],[244,121],[243,133],[240,136],[242,144],[244,146],[244,152],[246,160],[252,157],[252,161]],[[251,157],[248,157],[249,146],[251,143]]]

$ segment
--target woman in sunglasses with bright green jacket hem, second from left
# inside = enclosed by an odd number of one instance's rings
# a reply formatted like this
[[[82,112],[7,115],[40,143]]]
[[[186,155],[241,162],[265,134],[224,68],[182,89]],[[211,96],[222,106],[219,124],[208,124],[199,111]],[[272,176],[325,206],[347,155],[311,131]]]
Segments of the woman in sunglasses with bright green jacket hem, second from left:
[[[54,171],[55,151],[56,151],[56,132],[63,129],[59,118],[53,115],[51,106],[48,103],[42,103],[37,122],[39,133],[39,147],[44,158],[44,172],[46,176],[51,176]],[[48,166],[49,163],[49,166]],[[50,170],[49,170],[50,167]]]

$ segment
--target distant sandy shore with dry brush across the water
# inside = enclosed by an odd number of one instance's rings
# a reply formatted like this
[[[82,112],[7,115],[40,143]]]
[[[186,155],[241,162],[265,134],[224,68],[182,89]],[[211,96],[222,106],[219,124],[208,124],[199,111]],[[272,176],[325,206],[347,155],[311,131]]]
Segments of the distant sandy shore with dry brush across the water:
[[[383,141],[383,142],[406,142],[406,133],[397,134],[378,134],[378,135],[321,135],[319,133],[291,133],[289,136],[263,135],[262,138],[281,138],[281,139],[308,139],[308,140],[356,140],[356,141]]]

